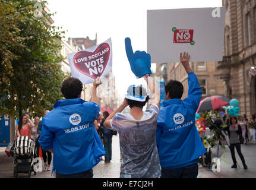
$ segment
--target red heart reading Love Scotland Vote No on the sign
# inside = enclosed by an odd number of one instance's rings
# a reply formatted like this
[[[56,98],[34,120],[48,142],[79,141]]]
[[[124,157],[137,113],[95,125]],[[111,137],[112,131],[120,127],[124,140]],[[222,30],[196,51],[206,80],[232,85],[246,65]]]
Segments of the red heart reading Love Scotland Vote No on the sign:
[[[75,54],[73,64],[78,71],[96,79],[100,77],[109,61],[108,43],[100,44],[94,52],[80,51]]]

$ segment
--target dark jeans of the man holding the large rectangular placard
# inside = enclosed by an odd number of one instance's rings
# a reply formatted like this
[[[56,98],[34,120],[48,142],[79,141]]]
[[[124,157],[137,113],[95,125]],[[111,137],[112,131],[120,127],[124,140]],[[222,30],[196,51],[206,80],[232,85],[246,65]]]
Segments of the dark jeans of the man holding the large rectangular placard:
[[[198,165],[197,163],[175,168],[175,169],[164,169],[161,170],[161,178],[197,178],[198,175]]]

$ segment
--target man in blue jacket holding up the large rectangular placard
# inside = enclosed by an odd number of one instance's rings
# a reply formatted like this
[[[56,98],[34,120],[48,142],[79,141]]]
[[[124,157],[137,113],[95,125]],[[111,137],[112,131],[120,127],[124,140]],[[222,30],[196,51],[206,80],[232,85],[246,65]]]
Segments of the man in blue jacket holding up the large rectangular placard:
[[[166,100],[159,112],[156,131],[161,178],[197,178],[199,157],[206,153],[195,126],[202,91],[189,66],[190,55],[184,52],[180,57],[188,74],[188,97],[181,100],[184,93],[181,82],[170,80],[165,85]]]

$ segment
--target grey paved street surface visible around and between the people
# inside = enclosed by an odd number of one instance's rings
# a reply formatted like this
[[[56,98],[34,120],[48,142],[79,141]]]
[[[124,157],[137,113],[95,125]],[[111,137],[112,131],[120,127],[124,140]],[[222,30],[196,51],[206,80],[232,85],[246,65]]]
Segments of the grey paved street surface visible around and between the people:
[[[14,178],[12,157],[7,157],[5,147],[0,147],[0,178]],[[232,169],[232,159],[229,148],[222,156],[221,171],[212,172],[207,167],[199,165],[198,178],[256,178],[256,144],[242,145],[242,153],[244,154],[248,170],[244,170],[242,162],[236,153],[236,160],[241,169]],[[225,162],[226,157],[226,162]],[[110,163],[101,161],[93,168],[94,178],[119,178],[120,172],[120,151],[119,138],[113,136],[112,139],[112,160]],[[27,178],[27,174],[20,173],[18,178]],[[51,171],[37,172],[37,175],[31,175],[31,178],[52,178]]]

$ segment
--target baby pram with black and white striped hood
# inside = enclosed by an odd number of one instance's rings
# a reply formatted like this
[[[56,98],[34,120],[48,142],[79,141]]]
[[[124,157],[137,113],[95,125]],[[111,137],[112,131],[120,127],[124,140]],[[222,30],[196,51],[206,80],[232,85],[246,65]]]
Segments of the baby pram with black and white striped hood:
[[[27,173],[31,175],[34,172],[34,154],[35,154],[35,143],[30,137],[22,136],[17,137],[14,141],[14,177],[18,178],[18,173]],[[18,162],[20,160],[21,162]],[[28,161],[27,161],[28,160]]]

